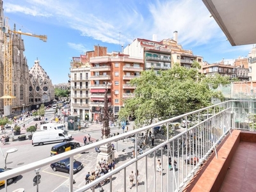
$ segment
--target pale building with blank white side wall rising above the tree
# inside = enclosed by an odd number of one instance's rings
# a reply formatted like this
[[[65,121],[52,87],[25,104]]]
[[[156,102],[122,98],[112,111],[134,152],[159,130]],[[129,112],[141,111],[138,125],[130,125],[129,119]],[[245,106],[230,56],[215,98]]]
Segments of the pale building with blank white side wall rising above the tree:
[[[173,38],[164,39],[158,42],[156,35],[153,40],[136,38],[132,44],[127,45],[124,54],[132,57],[142,58],[145,63],[145,70],[167,70],[175,63],[183,67],[191,67],[193,61],[202,65],[202,56],[195,56],[190,50],[185,50],[178,44],[178,32],[174,31]]]

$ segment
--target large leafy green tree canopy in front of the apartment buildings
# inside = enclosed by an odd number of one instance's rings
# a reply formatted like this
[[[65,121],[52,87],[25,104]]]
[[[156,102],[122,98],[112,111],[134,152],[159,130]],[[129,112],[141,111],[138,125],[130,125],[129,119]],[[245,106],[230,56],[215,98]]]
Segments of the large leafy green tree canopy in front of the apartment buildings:
[[[221,92],[209,88],[228,84],[223,76],[207,76],[198,73],[200,65],[194,62],[191,68],[175,64],[170,70],[146,70],[131,80],[136,86],[135,97],[124,100],[124,108],[118,115],[120,120],[128,116],[136,118],[136,127],[150,125],[154,118],[164,120],[196,109],[211,106],[211,99],[223,100]]]

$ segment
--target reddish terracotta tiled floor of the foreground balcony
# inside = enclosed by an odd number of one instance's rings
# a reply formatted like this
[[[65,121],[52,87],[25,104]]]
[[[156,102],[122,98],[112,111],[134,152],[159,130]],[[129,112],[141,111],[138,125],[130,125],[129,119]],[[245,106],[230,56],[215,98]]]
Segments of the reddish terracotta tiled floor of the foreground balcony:
[[[256,191],[256,143],[241,142],[221,186],[221,192]]]

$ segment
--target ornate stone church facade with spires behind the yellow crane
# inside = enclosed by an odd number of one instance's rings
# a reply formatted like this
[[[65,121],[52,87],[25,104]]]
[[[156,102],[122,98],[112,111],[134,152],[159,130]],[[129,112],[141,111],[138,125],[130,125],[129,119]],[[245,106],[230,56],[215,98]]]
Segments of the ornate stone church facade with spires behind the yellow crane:
[[[0,0],[0,27],[3,28],[3,1]],[[14,26],[15,29],[15,26]],[[4,35],[0,30],[0,97],[4,95]],[[44,69],[35,61],[29,70],[26,56],[24,56],[24,40],[19,34],[12,35],[12,113],[15,111],[31,110],[40,104],[51,103],[54,99],[54,86]],[[0,99],[0,113],[4,110],[4,100]]]

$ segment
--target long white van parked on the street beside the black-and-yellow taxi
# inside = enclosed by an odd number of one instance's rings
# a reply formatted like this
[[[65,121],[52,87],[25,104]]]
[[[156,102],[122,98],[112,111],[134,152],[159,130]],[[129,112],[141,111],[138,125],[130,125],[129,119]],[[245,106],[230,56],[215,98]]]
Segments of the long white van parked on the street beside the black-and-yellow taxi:
[[[32,145],[44,145],[44,143],[54,143],[72,140],[72,135],[63,130],[38,131],[32,136]]]

